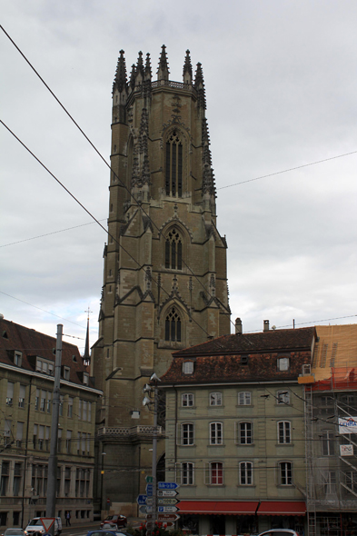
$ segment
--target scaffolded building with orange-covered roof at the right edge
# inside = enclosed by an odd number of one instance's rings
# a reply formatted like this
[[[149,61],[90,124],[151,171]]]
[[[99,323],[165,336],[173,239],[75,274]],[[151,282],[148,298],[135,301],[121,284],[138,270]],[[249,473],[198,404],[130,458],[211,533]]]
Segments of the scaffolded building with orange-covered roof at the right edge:
[[[310,536],[357,530],[357,324],[316,326],[305,384]]]

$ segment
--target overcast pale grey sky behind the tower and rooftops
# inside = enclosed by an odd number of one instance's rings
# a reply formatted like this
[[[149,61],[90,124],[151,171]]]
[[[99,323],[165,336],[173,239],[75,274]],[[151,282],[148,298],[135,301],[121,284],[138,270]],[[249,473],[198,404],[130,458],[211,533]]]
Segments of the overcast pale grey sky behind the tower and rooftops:
[[[275,174],[357,152],[355,0],[0,7],[5,31],[107,160],[119,50],[129,72],[139,50],[150,52],[155,76],[164,44],[170,78],[181,81],[189,48],[203,65],[232,320],[240,316],[243,331],[264,319],[356,322],[357,153]],[[3,31],[0,47],[2,121],[105,225],[107,167]],[[2,124],[0,136],[0,313],[51,335],[63,323],[84,338],[90,306],[93,344],[105,233]],[[83,350],[84,341],[64,340]]]

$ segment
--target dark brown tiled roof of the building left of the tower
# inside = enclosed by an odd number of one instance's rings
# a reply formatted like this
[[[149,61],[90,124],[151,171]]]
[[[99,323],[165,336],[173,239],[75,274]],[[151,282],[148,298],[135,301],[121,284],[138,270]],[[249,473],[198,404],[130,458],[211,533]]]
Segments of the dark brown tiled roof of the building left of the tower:
[[[36,356],[55,363],[53,352],[55,346],[55,337],[5,319],[0,320],[0,362],[2,363],[14,364],[11,355],[14,355],[14,351],[22,352],[21,369],[35,372]],[[89,372],[89,370],[84,365],[79,350],[74,344],[62,342],[62,365],[70,368],[70,382],[83,385],[83,372]],[[89,386],[93,387],[93,384],[89,382]]]

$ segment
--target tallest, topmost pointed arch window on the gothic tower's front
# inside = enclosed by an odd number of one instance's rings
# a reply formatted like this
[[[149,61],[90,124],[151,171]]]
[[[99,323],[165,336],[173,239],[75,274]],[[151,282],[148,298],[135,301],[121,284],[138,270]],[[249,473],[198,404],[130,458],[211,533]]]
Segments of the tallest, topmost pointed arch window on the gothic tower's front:
[[[166,195],[183,196],[183,144],[175,130],[166,142],[165,190]]]

